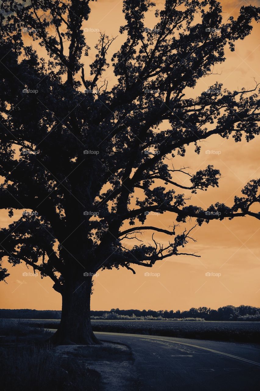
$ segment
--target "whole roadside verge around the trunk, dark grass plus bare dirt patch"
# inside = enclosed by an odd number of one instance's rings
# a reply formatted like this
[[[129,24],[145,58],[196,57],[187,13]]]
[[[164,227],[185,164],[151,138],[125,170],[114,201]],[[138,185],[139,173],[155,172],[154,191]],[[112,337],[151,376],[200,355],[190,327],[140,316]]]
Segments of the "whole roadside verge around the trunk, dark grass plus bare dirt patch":
[[[100,391],[104,374],[121,373],[122,362],[129,363],[129,368],[133,363],[125,345],[105,342],[54,348],[46,342],[52,334],[37,322],[0,320],[1,390]]]

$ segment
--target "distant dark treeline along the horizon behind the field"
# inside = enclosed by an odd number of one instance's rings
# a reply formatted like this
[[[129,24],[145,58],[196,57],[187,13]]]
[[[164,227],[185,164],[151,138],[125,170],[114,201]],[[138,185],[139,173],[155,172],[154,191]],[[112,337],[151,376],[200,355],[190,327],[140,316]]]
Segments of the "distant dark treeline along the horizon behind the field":
[[[191,308],[188,311],[167,311],[167,310],[119,310],[112,308],[110,311],[91,311],[91,316],[102,317],[107,314],[118,314],[132,317],[153,317],[166,319],[183,319],[183,318],[201,318],[208,321],[260,321],[260,308],[251,305],[226,305],[217,310],[207,307]],[[8,310],[0,309],[0,318],[5,319],[61,319],[61,311],[53,310],[30,310],[18,309]],[[120,317],[119,317],[120,318]]]

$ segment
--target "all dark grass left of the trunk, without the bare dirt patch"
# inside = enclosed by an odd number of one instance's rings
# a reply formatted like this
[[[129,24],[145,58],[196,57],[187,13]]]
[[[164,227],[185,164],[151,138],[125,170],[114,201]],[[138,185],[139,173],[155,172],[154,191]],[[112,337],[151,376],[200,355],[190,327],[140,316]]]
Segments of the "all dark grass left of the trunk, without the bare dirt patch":
[[[63,357],[43,344],[52,332],[17,319],[1,319],[0,335],[1,390],[100,390],[100,374],[84,359]]]

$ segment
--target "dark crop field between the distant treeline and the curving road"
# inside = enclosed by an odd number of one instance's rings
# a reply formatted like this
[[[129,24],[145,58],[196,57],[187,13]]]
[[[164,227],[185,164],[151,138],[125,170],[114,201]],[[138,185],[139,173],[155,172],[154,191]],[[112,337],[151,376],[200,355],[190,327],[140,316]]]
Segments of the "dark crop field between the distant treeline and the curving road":
[[[1,321],[18,320],[0,319],[0,325]],[[56,319],[21,319],[20,322],[51,329],[59,324]],[[94,331],[260,343],[260,322],[93,320],[91,323]]]

